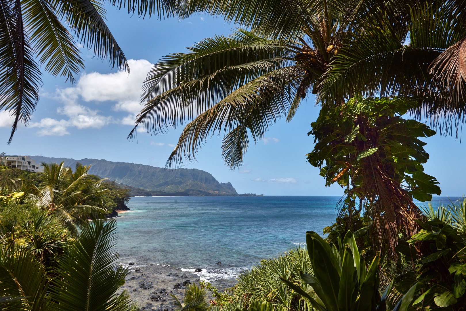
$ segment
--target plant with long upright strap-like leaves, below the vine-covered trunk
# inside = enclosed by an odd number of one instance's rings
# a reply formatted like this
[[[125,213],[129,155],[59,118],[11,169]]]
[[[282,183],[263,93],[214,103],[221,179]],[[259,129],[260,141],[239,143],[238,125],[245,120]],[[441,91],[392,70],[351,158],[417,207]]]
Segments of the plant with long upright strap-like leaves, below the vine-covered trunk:
[[[314,275],[301,273],[301,277],[314,290],[314,297],[293,282],[281,279],[305,297],[313,308],[318,311],[357,311],[375,310],[377,304],[385,304],[378,291],[379,253],[366,270],[365,260],[359,255],[350,231],[343,241],[340,240],[338,248],[313,231],[306,232],[306,242]]]

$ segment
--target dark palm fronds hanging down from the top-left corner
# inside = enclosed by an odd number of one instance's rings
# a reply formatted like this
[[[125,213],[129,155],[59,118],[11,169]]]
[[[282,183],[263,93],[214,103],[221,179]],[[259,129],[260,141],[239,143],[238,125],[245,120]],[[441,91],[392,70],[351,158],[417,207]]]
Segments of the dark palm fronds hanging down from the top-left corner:
[[[77,43],[112,67],[129,71],[122,49],[105,24],[105,2],[0,0],[0,109],[14,117],[8,144],[18,123],[28,123],[39,100],[40,67],[71,82],[84,68]],[[143,17],[177,12],[175,0],[108,3]]]

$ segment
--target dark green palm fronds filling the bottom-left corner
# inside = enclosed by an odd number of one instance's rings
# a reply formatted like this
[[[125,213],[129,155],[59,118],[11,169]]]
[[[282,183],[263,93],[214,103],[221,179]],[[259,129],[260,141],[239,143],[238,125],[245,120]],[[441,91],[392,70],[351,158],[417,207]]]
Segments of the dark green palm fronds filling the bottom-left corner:
[[[16,298],[6,310],[136,311],[126,291],[117,293],[129,271],[115,264],[115,229],[115,220],[82,226],[53,278],[29,249],[1,244],[0,296]]]

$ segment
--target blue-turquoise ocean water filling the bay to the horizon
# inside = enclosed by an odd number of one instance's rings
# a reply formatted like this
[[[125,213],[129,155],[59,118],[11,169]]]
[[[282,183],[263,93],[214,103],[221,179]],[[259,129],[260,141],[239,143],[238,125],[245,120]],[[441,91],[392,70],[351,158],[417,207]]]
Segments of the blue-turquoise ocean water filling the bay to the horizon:
[[[336,218],[337,196],[133,197],[117,217],[121,261],[247,269],[303,245]],[[450,198],[457,200],[458,198]],[[434,207],[450,204],[447,197]],[[426,205],[419,203],[419,205]]]

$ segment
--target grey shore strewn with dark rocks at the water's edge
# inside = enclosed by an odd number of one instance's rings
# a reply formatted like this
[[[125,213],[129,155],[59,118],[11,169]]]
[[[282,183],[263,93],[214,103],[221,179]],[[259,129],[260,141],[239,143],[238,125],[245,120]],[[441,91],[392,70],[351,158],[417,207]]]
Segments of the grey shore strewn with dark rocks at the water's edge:
[[[183,302],[183,293],[187,284],[199,283],[199,274],[190,271],[182,271],[169,265],[137,263],[128,264],[130,274],[126,277],[125,284],[120,293],[127,290],[131,299],[139,304],[145,311],[173,311],[173,297],[175,295]],[[204,271],[209,273],[210,271]],[[232,287],[236,283],[235,278],[217,278],[211,281],[219,291]],[[211,297],[209,297],[211,298]]]

